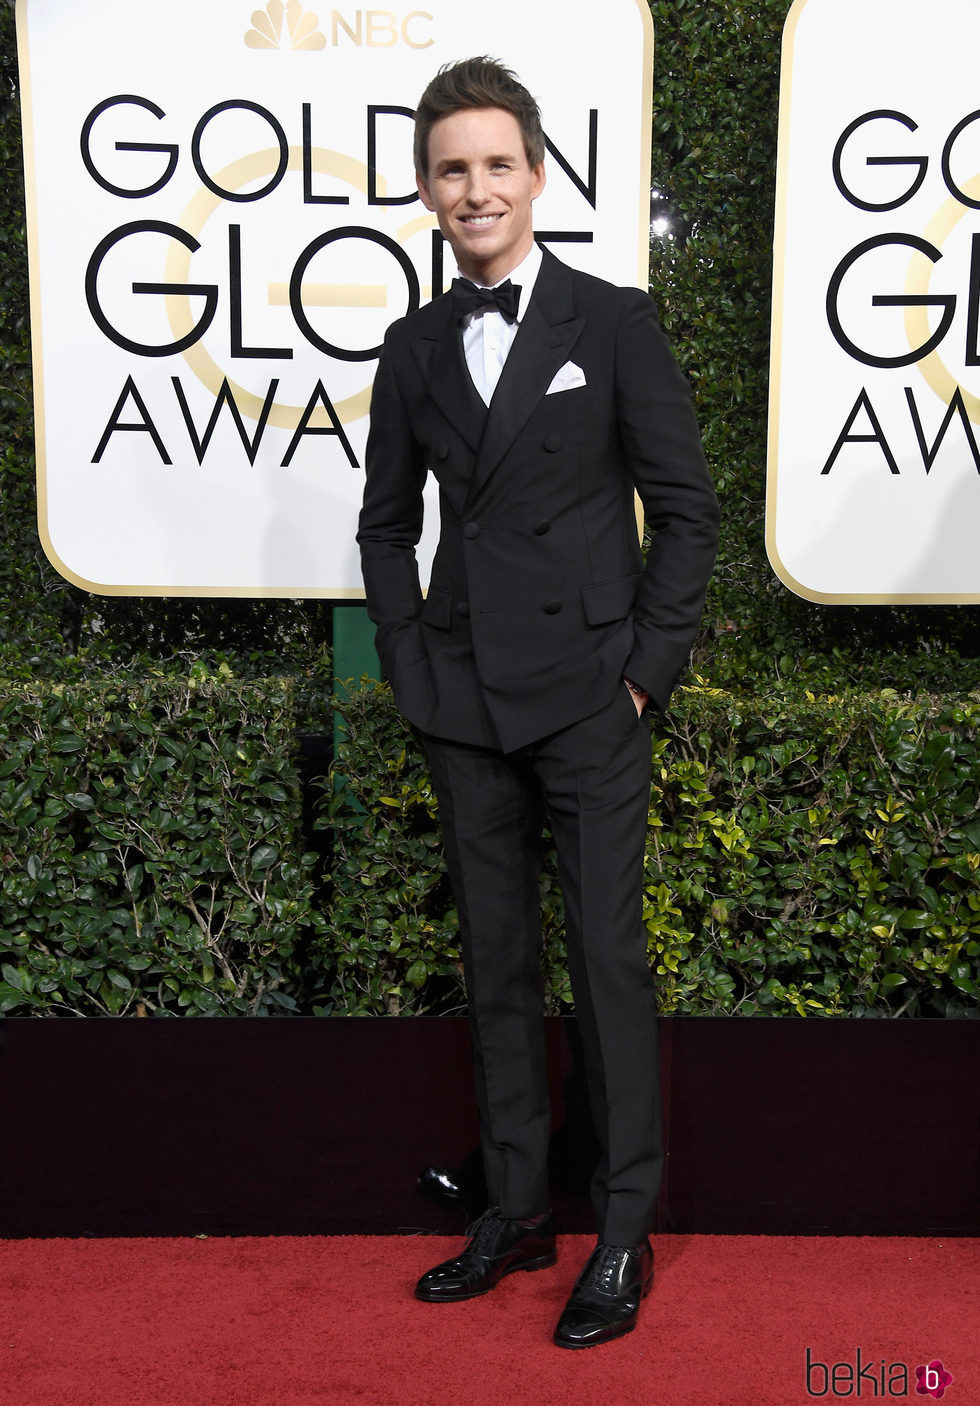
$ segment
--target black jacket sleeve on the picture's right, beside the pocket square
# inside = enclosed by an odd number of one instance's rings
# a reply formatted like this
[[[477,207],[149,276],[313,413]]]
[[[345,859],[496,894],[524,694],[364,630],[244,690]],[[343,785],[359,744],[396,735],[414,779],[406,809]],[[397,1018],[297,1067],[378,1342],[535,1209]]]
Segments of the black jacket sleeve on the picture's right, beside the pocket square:
[[[720,512],[688,381],[652,299],[640,291],[630,292],[617,329],[616,402],[626,463],[652,533],[623,672],[662,710],[697,634]]]

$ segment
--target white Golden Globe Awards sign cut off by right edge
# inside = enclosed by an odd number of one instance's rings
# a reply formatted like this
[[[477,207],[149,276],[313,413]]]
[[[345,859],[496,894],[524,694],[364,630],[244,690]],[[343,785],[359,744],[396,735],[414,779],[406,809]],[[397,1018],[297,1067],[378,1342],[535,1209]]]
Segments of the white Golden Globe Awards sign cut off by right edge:
[[[766,531],[813,600],[980,600],[977,52],[977,0],[786,21]]]

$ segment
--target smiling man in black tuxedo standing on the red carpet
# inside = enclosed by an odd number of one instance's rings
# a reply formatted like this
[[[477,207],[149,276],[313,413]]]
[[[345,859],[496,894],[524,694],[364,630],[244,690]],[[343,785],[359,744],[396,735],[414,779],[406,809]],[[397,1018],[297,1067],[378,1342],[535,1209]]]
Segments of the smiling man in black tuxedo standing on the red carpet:
[[[544,138],[527,90],[489,59],[443,69],[416,112],[415,165],[461,278],[385,339],[359,541],[378,655],[439,800],[491,1202],[416,1295],[467,1299],[555,1261],[537,965],[547,821],[600,1144],[598,1247],[555,1341],[592,1347],[634,1326],[652,1282],[647,720],[686,664],[718,509],[650,298],[534,245]],[[423,600],[429,472],[441,531]],[[645,564],[634,486],[654,533]]]

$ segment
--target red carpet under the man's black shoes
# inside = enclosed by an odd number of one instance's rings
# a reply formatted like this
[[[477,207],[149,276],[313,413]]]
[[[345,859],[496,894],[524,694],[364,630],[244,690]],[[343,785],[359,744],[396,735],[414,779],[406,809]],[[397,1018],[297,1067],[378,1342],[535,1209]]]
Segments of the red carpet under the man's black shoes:
[[[928,1403],[915,1368],[935,1360],[948,1406],[980,1402],[977,1240],[658,1236],[637,1330],[585,1353],[550,1339],[591,1240],[564,1237],[554,1270],[486,1298],[416,1302],[415,1278],[458,1244],[3,1241],[0,1402]]]

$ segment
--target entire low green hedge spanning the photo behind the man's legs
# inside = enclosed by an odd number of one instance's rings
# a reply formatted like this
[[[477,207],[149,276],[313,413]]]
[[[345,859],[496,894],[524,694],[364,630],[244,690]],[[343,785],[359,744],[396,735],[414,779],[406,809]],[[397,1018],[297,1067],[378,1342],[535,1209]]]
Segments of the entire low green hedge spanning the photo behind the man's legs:
[[[385,686],[335,706],[333,772],[304,786],[297,733],[326,727],[308,682],[0,690],[0,1011],[463,1010],[418,744]],[[980,695],[682,689],[654,738],[644,890],[662,1010],[976,1014],[979,797]],[[551,862],[541,905],[567,1010]]]

